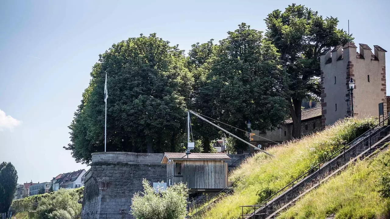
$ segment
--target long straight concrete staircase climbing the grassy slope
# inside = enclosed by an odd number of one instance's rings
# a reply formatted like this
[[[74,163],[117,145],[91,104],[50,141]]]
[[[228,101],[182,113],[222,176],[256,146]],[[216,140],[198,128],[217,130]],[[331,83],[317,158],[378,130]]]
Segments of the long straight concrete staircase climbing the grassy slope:
[[[357,159],[371,155],[378,148],[390,141],[390,126],[376,126],[362,136],[341,148],[316,167],[296,178],[289,185],[270,196],[259,205],[241,206],[254,209],[250,213],[242,214],[245,219],[272,219],[292,207],[294,203],[306,193],[316,188],[330,177],[336,175]],[[247,210],[247,209],[246,209]]]

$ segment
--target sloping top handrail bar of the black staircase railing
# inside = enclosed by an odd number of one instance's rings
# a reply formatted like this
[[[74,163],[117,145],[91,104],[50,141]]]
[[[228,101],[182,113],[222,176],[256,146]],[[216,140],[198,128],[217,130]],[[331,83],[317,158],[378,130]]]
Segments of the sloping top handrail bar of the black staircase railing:
[[[355,142],[356,139],[362,137],[363,135],[367,134],[368,132],[370,132],[370,147],[371,147],[371,131],[378,127],[378,125],[380,124],[384,124],[385,123],[385,120],[389,118],[389,115],[386,116],[385,118],[383,118],[383,120],[381,122],[379,122],[378,124],[376,124],[375,126],[371,127],[371,129],[367,130],[366,132],[364,132],[363,134],[361,134],[360,136],[356,137],[354,140],[352,140],[351,142],[349,142],[347,145],[344,145],[344,147],[340,148],[339,150],[337,150],[336,152],[334,152],[332,155],[326,157],[325,159],[323,159],[321,162],[319,162],[316,166],[314,166],[313,168],[311,168],[310,170],[306,171],[305,173],[303,173],[302,175],[300,175],[299,177],[295,178],[292,182],[290,182],[289,184],[287,184],[285,187],[283,187],[282,189],[280,189],[279,191],[277,191],[276,193],[272,194],[271,196],[269,196],[266,200],[264,200],[263,202],[267,203],[267,201],[271,200],[271,198],[273,198],[274,196],[276,196],[277,194],[279,194],[281,191],[284,191],[285,188],[289,187],[290,185],[292,185],[292,187],[294,187],[294,182],[298,181],[300,178],[302,178],[303,176],[305,176],[306,174],[310,173],[311,171],[313,170],[316,170],[318,168],[318,170],[321,168],[320,165],[323,164],[324,162],[328,161],[328,159],[330,159],[331,157],[333,157],[334,155],[338,154],[341,150],[344,150],[345,152],[345,149],[347,147],[349,147],[352,143]],[[252,207],[254,205],[245,205],[243,207]],[[266,206],[266,204],[265,204]],[[240,206],[241,207],[241,206]]]

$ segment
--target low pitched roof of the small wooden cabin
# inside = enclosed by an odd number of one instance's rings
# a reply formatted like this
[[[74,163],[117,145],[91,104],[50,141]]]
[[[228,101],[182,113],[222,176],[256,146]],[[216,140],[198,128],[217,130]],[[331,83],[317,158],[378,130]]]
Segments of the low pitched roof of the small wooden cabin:
[[[187,155],[185,153],[164,153],[162,164],[167,164],[168,160],[175,161],[229,161],[230,157],[227,154],[199,154],[191,153]]]

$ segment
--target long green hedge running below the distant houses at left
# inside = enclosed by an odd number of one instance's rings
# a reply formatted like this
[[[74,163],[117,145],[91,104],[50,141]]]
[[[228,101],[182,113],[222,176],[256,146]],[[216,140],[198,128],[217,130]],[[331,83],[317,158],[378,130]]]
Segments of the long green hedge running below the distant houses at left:
[[[69,189],[69,191],[74,191],[78,195],[78,200],[83,198],[83,192],[84,192],[84,186],[77,188],[77,189]],[[52,192],[57,193],[57,191]],[[21,198],[18,200],[12,201],[11,208],[12,210],[15,210],[17,212],[23,211],[23,210],[36,210],[37,204],[39,205],[39,202],[42,199],[48,198],[50,194],[52,193],[45,193],[45,194],[39,194],[34,196],[28,196],[26,198]]]

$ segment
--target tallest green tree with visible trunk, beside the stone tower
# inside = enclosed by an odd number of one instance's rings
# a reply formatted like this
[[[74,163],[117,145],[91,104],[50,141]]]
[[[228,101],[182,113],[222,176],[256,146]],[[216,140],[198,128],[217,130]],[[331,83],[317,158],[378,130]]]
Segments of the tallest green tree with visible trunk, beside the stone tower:
[[[353,38],[337,29],[337,18],[323,18],[304,5],[289,5],[284,12],[275,10],[265,19],[266,37],[278,52],[289,76],[289,111],[293,137],[301,135],[301,104],[321,94],[319,56],[324,49],[345,44]]]

